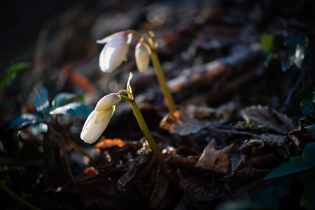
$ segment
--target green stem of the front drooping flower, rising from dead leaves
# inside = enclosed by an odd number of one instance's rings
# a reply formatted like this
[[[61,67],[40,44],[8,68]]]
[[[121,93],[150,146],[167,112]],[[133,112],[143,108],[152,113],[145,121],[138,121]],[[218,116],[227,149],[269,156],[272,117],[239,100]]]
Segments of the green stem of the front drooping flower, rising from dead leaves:
[[[136,104],[136,102],[133,99],[130,99],[127,96],[123,96],[121,95],[121,98],[125,101],[127,101],[131,107],[132,110],[136,116],[136,119],[138,121],[138,124],[141,128],[141,131],[143,133],[143,135],[146,138],[146,141],[148,142],[150,149],[152,150],[153,154],[155,155],[155,158],[157,160],[157,162],[159,162],[163,172],[167,175],[167,177],[169,178],[169,180],[175,185],[177,186],[177,178],[175,177],[175,175],[171,172],[171,169],[169,167],[169,165],[167,164],[167,162],[164,160],[164,158],[162,157],[162,154],[160,152],[160,150],[157,148],[155,141],[149,131],[149,128],[147,127],[144,118],[140,112],[140,109],[138,107],[138,105]]]

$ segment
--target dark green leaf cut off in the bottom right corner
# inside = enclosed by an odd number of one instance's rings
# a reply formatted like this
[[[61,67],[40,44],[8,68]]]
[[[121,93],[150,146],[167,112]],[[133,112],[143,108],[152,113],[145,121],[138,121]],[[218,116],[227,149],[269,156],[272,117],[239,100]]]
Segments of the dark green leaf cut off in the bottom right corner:
[[[311,180],[302,192],[301,202],[300,205],[306,210],[315,209],[315,178]]]

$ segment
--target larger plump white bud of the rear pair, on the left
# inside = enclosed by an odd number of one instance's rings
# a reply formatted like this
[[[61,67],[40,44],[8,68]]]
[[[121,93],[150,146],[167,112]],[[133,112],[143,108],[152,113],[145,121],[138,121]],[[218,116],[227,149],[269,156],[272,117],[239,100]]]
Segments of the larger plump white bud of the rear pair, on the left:
[[[127,42],[127,37],[124,34],[119,34],[105,44],[99,57],[99,65],[103,72],[110,73],[127,60],[129,50],[129,43]]]

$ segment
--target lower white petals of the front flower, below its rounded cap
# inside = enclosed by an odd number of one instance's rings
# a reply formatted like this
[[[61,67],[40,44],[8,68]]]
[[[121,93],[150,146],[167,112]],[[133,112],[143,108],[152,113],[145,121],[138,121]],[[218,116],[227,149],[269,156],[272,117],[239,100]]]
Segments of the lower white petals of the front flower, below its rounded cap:
[[[81,139],[88,144],[95,143],[106,129],[114,111],[115,106],[104,111],[93,110],[83,125]]]

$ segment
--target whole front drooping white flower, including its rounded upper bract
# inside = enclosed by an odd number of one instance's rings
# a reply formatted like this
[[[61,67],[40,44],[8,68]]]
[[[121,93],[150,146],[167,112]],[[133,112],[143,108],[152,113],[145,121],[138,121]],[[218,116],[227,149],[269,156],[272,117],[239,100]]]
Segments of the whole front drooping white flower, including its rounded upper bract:
[[[81,131],[80,137],[85,143],[93,144],[99,139],[108,126],[114,114],[115,106],[120,100],[121,97],[119,94],[112,93],[98,101]]]

